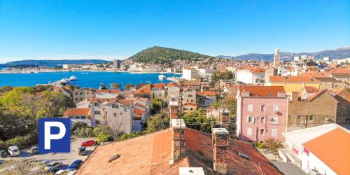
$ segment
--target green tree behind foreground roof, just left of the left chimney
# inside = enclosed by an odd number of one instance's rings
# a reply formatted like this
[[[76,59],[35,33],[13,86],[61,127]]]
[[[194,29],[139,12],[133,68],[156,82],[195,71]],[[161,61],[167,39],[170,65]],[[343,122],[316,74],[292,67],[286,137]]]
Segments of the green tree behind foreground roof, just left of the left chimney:
[[[167,113],[158,113],[147,120],[146,133],[156,132],[169,128],[169,116]]]

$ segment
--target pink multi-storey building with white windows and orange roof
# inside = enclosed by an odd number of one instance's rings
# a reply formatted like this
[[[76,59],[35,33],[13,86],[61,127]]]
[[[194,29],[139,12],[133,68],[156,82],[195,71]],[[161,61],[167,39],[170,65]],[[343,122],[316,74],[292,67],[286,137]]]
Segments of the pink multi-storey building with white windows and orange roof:
[[[283,140],[287,97],[282,86],[239,86],[237,137],[244,141]]]

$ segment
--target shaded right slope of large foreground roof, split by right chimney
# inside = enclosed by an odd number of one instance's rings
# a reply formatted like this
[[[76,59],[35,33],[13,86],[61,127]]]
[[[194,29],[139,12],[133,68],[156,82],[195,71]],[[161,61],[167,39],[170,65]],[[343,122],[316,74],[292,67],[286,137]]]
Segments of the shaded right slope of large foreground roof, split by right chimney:
[[[211,134],[186,129],[185,142],[188,150],[191,151],[188,154],[191,167],[203,167],[207,174],[214,174]],[[244,153],[249,159],[241,158],[237,153]],[[238,140],[229,141],[226,162],[228,174],[281,174],[253,146]]]

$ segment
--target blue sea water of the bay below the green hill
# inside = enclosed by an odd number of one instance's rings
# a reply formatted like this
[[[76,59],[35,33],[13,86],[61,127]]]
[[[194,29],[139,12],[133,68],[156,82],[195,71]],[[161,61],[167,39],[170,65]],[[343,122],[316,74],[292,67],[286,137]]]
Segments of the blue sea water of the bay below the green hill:
[[[73,81],[73,85],[79,87],[93,87],[98,88],[99,84],[103,82],[109,87],[111,83],[119,83],[122,87],[131,83],[137,85],[139,83],[168,83],[169,80],[159,80],[160,73],[129,73],[129,72],[104,72],[104,71],[76,71],[76,72],[50,72],[50,73],[0,73],[0,87],[4,85],[9,86],[34,86],[36,84],[45,84],[61,80],[62,78],[69,78],[76,76],[77,80]],[[165,73],[166,77],[175,75],[172,73]]]

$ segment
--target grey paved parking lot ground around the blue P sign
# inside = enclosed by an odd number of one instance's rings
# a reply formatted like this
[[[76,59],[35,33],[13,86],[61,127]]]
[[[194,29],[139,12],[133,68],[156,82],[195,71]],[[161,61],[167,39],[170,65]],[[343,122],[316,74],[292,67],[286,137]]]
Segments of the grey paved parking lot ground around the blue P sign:
[[[31,155],[31,149],[23,149],[20,151],[19,157],[11,158],[10,155],[7,158],[0,158],[0,160],[54,160],[58,162],[62,162],[63,166],[61,169],[66,169],[73,162],[73,160],[83,160],[85,161],[87,156],[92,153],[96,146],[88,146],[86,147],[87,155],[78,155],[78,148],[80,147],[80,143],[87,140],[96,140],[96,138],[75,138],[71,139],[71,153],[47,153],[47,154],[38,154]]]

